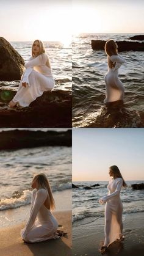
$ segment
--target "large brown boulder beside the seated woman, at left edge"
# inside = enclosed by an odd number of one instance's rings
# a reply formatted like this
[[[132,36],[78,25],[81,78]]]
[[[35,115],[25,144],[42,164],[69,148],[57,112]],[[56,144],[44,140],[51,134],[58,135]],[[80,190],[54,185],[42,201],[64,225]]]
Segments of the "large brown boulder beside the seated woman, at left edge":
[[[24,72],[24,60],[3,37],[0,37],[0,56],[0,80],[20,80]]]

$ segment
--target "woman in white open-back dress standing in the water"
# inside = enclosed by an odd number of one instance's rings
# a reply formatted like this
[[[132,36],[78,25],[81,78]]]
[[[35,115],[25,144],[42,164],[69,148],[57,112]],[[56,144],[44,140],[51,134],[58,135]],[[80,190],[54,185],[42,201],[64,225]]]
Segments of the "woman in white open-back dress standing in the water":
[[[104,77],[106,82],[106,98],[104,103],[122,100],[124,98],[124,87],[118,79],[118,68],[125,62],[118,54],[118,46],[113,40],[108,40],[105,45],[109,70]]]

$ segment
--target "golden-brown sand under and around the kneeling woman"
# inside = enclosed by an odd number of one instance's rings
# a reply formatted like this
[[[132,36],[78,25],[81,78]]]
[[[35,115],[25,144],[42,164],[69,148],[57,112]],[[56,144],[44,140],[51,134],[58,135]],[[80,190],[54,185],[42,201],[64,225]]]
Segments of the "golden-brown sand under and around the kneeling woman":
[[[53,213],[59,223],[59,230],[67,235],[56,240],[47,240],[40,243],[24,243],[20,236],[21,224],[0,229],[1,256],[69,256],[71,255],[71,210]]]

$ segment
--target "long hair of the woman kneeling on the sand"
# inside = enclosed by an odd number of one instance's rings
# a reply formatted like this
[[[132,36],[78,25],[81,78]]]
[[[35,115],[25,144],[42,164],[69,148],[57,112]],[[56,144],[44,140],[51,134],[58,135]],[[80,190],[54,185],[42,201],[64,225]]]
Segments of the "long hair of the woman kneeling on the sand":
[[[48,191],[49,199],[50,199],[50,208],[54,210],[55,202],[54,197],[52,196],[51,186],[49,185],[48,178],[46,178],[45,174],[37,174],[35,175],[34,179],[38,181],[39,188],[44,188]]]

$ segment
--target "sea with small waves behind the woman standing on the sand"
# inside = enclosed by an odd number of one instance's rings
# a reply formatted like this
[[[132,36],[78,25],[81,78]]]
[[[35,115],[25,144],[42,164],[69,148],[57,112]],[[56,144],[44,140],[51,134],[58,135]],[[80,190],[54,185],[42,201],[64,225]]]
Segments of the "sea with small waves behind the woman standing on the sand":
[[[138,213],[144,211],[144,191],[134,190],[131,188],[132,184],[143,183],[144,181],[126,181],[128,187],[122,189],[120,192],[121,201],[123,203],[123,221],[126,214]],[[84,186],[96,186],[93,189],[84,189]],[[95,221],[97,218],[104,216],[104,205],[99,204],[99,199],[107,196],[108,181],[81,181],[73,182],[74,185],[79,186],[79,189],[73,188],[73,226],[77,226],[77,221],[82,224],[87,223],[87,220]],[[88,218],[88,219],[87,219]],[[79,224],[81,225],[81,223]]]

